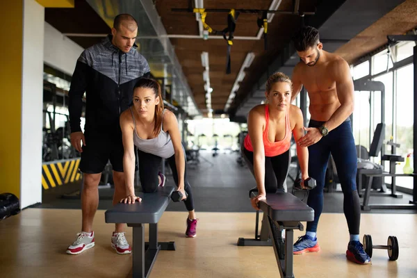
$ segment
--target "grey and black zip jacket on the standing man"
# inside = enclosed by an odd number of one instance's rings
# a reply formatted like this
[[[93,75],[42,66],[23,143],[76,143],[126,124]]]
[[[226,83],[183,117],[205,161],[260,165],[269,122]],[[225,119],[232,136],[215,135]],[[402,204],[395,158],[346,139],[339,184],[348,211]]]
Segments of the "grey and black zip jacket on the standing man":
[[[133,88],[143,76],[149,77],[147,60],[136,45],[124,53],[108,35],[102,42],[85,49],[76,61],[70,85],[71,132],[81,131],[80,117],[85,92],[85,131],[113,133],[120,130],[120,113],[132,103]]]

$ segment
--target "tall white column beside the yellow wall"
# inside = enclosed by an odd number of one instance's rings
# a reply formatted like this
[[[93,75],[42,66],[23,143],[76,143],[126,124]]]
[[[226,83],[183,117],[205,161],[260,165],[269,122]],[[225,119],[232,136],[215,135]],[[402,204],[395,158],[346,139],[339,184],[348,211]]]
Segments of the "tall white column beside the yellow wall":
[[[44,7],[24,0],[23,15],[21,208],[42,202]]]

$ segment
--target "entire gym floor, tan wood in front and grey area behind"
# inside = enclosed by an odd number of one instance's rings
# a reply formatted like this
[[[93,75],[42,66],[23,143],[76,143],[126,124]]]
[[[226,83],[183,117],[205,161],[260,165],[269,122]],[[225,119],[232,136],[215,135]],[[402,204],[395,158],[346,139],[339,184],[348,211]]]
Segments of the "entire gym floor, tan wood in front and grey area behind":
[[[171,202],[161,218],[158,236],[160,241],[175,241],[177,250],[161,251],[150,277],[279,277],[272,247],[236,245],[239,237],[254,237],[255,213],[247,195],[255,186],[252,174],[236,163],[237,154],[202,156],[213,165],[202,159],[189,171],[199,218],[197,238],[184,237],[185,206]],[[167,179],[167,185],[172,185],[170,174]],[[288,186],[291,184],[288,179]],[[132,257],[111,249],[114,228],[104,222],[104,211],[111,207],[111,188],[100,189],[94,222],[96,245],[77,256],[67,255],[65,250],[80,228],[80,199],[63,199],[53,190],[47,194],[48,202],[0,221],[2,277],[74,277],[75,272],[78,277],[131,276]],[[409,199],[404,194],[402,199],[371,197],[370,202],[405,204]],[[295,277],[417,277],[412,257],[416,254],[416,227],[416,210],[363,212],[361,238],[370,234],[374,245],[386,245],[388,236],[396,236],[400,256],[389,261],[386,250],[373,250],[372,265],[351,263],[345,259],[348,234],[343,194],[325,193],[318,226],[322,250],[295,256]],[[295,231],[295,239],[302,234],[304,231]],[[131,242],[129,227],[126,237]]]

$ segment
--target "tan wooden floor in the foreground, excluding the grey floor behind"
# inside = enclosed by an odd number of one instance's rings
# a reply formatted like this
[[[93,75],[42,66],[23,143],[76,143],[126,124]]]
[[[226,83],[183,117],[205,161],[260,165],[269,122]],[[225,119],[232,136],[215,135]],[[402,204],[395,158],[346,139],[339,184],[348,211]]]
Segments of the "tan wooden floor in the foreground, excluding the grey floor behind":
[[[159,240],[172,241],[176,251],[161,251],[151,278],[279,277],[272,247],[238,247],[239,237],[254,236],[254,213],[199,213],[197,238],[185,238],[186,213],[167,211],[159,225]],[[117,255],[110,246],[112,224],[104,211],[95,218],[94,248],[76,255],[65,250],[80,229],[81,211],[28,208],[0,221],[0,277],[130,277],[131,254]],[[305,224],[305,223],[304,223]],[[417,277],[417,215],[363,214],[361,237],[386,245],[397,236],[398,261],[386,250],[374,250],[372,265],[345,259],[347,227],[343,214],[322,214],[318,239],[321,252],[294,257],[295,277]],[[131,242],[131,228],[127,228]],[[304,234],[297,231],[295,238]]]

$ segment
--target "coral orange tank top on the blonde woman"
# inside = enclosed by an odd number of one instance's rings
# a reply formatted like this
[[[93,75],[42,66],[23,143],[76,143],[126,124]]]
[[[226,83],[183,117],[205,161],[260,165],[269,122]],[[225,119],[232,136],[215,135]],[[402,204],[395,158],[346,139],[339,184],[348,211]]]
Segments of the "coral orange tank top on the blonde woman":
[[[278,156],[279,154],[284,154],[284,152],[288,151],[291,147],[291,125],[290,125],[290,117],[288,116],[288,112],[285,115],[285,137],[284,139],[277,141],[277,142],[270,142],[268,139],[268,129],[269,129],[269,107],[265,105],[265,130],[263,131],[263,147],[265,149],[265,156]],[[252,147],[252,142],[250,141],[249,133],[245,137],[243,142],[245,149],[250,152],[253,152],[254,149]]]

